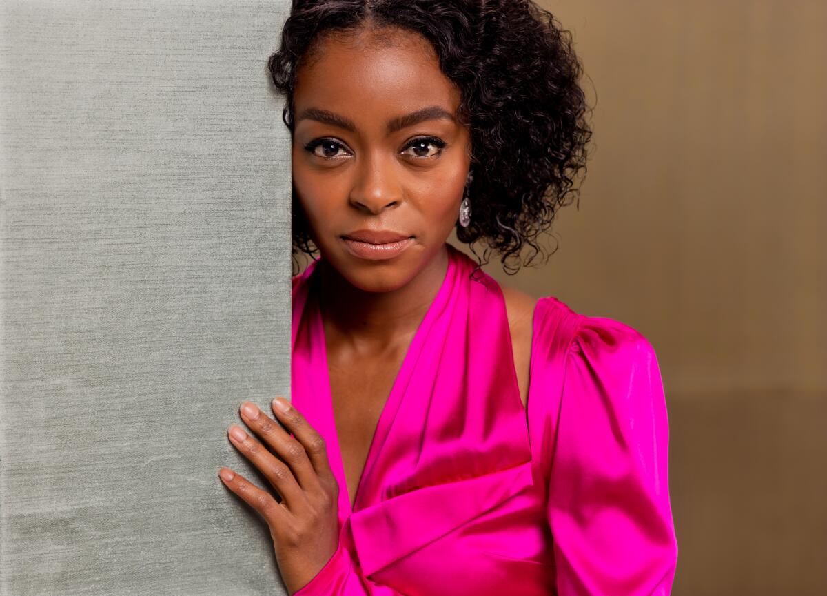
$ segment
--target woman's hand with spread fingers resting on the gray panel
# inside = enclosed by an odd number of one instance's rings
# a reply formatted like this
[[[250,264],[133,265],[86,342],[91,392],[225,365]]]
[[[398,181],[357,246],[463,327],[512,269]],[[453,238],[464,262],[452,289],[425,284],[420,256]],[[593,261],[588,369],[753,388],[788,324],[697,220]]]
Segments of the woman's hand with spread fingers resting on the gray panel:
[[[286,407],[284,412],[280,403]],[[289,594],[294,594],[336,552],[339,485],[330,469],[322,436],[284,398],[275,398],[272,405],[276,418],[295,438],[250,402],[241,404],[241,419],[264,444],[235,425],[229,428],[229,436],[270,481],[282,501],[276,502],[269,491],[228,468],[219,470],[219,475],[233,493],[265,518],[284,585]],[[241,434],[236,437],[236,432]]]

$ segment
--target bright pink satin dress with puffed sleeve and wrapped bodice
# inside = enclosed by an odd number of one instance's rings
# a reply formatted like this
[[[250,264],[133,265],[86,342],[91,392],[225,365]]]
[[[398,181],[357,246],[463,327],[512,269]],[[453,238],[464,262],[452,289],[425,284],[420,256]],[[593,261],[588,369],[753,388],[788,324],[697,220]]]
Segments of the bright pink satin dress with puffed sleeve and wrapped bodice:
[[[294,596],[670,594],[677,542],[652,346],[540,298],[523,408],[500,285],[470,279],[476,263],[447,248],[352,510],[316,263],[293,279],[291,400],[340,486],[337,551]]]

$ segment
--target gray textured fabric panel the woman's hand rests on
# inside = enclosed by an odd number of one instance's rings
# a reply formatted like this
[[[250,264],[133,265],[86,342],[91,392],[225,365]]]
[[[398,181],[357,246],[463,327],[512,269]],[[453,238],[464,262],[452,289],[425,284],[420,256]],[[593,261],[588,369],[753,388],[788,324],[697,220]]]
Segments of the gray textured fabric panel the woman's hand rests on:
[[[285,594],[218,468],[289,395],[288,13],[0,3],[4,596]]]

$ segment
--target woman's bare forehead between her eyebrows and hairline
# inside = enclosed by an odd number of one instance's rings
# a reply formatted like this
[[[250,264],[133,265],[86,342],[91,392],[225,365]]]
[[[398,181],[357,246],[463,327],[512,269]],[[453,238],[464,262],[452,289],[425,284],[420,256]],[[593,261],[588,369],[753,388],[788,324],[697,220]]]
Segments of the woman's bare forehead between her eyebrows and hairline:
[[[455,112],[460,100],[433,47],[401,29],[325,36],[299,68],[294,91],[297,113],[312,105],[346,115],[358,126],[384,125],[424,105]]]

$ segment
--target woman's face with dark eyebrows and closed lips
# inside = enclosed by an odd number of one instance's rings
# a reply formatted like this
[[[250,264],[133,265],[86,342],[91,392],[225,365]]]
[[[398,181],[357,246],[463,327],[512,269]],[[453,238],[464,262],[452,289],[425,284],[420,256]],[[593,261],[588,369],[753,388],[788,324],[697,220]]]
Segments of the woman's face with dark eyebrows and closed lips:
[[[443,250],[471,163],[461,94],[432,46],[381,35],[328,37],[294,90],[293,180],[313,242],[370,292],[404,286]]]

